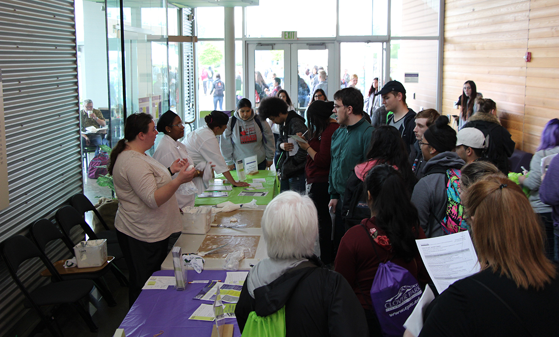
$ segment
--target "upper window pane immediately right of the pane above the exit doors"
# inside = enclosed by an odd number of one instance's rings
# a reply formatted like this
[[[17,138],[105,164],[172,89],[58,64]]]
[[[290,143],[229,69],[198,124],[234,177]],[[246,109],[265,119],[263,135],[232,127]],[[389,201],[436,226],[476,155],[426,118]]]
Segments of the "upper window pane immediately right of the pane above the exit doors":
[[[340,35],[387,35],[387,15],[387,0],[354,0],[340,2]],[[373,18],[375,18],[375,20],[373,20]]]

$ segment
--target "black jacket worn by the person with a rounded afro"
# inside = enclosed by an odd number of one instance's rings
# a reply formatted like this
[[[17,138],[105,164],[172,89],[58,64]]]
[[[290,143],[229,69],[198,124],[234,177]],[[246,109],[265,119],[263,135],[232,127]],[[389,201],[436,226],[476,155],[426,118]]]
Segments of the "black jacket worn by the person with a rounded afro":
[[[297,134],[297,132],[305,133],[306,131],[305,118],[301,117],[293,110],[288,112],[285,126],[280,126],[280,137],[278,137],[276,142],[276,148],[281,152],[281,157],[277,165],[278,171],[281,173],[281,180],[287,180],[305,173],[307,151],[299,148],[295,156],[290,156],[289,152],[283,151],[280,145],[281,143],[287,143],[290,134]]]

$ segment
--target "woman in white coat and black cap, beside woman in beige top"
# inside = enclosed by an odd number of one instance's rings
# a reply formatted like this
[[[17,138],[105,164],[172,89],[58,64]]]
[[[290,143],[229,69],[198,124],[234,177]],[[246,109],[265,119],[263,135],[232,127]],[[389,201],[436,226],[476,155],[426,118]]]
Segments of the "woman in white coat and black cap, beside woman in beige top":
[[[188,161],[188,165],[193,165],[193,160],[190,158],[190,155],[188,155],[186,146],[178,141],[184,137],[184,123],[178,114],[172,112],[171,110],[167,110],[167,112],[162,114],[157,122],[157,131],[163,132],[164,136],[161,138],[161,141],[159,141],[159,144],[153,153],[153,158],[155,160],[160,162],[161,165],[165,167],[170,166],[177,160],[177,158],[186,159]],[[173,177],[176,176],[177,174],[173,175]],[[194,177],[197,178],[202,176],[203,171],[196,170]],[[181,185],[181,188],[175,194],[178,206],[181,209],[185,206],[194,206],[196,191],[187,193],[187,190],[186,185]]]

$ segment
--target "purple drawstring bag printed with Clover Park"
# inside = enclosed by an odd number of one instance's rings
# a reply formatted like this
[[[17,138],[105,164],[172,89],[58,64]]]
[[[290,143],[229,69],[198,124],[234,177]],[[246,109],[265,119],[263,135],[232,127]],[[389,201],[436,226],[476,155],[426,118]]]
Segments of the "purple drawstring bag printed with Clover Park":
[[[380,263],[371,287],[373,308],[385,337],[404,334],[404,323],[423,291],[408,269],[388,261]]]

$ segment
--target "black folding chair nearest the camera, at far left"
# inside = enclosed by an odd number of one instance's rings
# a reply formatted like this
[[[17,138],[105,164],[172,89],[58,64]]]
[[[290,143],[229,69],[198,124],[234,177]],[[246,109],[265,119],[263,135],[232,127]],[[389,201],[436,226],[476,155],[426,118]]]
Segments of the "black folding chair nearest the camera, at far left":
[[[16,282],[16,285],[21,289],[23,295],[25,295],[26,300],[23,302],[23,305],[27,308],[35,309],[41,321],[45,323],[51,334],[54,336],[61,335],[54,329],[51,320],[40,309],[41,306],[72,305],[72,307],[78,311],[78,314],[82,316],[83,320],[86,321],[89,330],[91,330],[92,333],[97,331],[97,326],[91,319],[91,315],[89,315],[89,312],[79,303],[81,299],[89,296],[89,292],[93,289],[93,281],[61,281],[60,275],[56,272],[56,269],[53,264],[50,263],[49,259],[39,251],[39,248],[37,248],[30,239],[22,235],[16,235],[15,237],[5,240],[2,243],[0,253],[2,254],[4,262],[6,262],[6,266],[13,281]],[[28,291],[17,276],[17,271],[23,262],[36,257],[41,259],[42,263],[49,269],[57,282],[52,282],[48,285],[36,288],[33,291]]]

